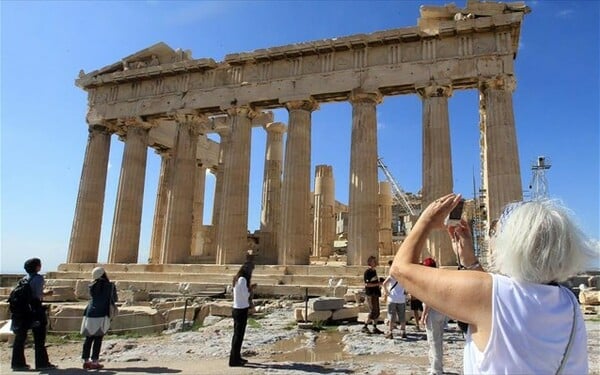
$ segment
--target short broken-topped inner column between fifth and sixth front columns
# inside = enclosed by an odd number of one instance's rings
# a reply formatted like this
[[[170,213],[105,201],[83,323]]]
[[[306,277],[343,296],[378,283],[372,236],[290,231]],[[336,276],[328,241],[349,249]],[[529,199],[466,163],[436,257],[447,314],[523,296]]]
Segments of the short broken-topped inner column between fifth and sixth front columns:
[[[313,255],[328,257],[335,241],[335,183],[330,165],[315,169]]]

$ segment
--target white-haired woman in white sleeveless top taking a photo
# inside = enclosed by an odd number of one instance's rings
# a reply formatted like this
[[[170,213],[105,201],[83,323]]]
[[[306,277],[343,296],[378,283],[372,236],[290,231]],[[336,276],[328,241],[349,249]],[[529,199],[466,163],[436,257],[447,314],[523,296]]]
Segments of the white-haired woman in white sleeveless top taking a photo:
[[[398,250],[391,274],[427,305],[469,323],[465,374],[586,374],[587,337],[573,293],[558,285],[597,256],[566,209],[553,201],[512,204],[491,244],[497,273],[483,271],[466,222],[448,228],[465,270],[418,264],[429,233],[461,199],[432,202]]]

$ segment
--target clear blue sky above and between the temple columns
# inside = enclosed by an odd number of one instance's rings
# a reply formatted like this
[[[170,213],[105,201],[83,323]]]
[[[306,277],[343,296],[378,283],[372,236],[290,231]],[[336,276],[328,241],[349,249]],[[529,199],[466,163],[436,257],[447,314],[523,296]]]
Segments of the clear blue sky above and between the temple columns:
[[[163,41],[193,58],[416,25],[419,5],[444,1],[1,1],[0,272],[64,263],[87,142],[86,72]],[[466,1],[458,0],[459,7]],[[538,155],[550,158],[550,196],[563,200],[592,238],[599,235],[599,35],[597,1],[527,2],[516,60],[515,122],[524,190]],[[287,113],[275,112],[287,122]],[[455,91],[450,127],[455,191],[473,195],[479,175],[477,92]],[[333,165],[336,198],[348,200],[351,107],[313,114],[312,175]],[[378,107],[379,154],[407,191],[421,188],[421,101],[386,97]],[[249,228],[258,229],[265,134],[252,134]],[[108,256],[123,144],[113,137],[99,261]],[[140,262],[148,255],[159,158],[151,150]],[[380,179],[384,176],[380,175]],[[477,177],[477,187],[479,179]],[[209,223],[214,180],[207,179]]]

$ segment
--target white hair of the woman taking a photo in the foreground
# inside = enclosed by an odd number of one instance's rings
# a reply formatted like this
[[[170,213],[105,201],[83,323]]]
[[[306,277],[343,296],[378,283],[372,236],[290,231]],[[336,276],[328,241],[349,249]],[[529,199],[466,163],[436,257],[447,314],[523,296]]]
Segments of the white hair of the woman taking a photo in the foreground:
[[[492,239],[491,268],[516,280],[565,281],[598,258],[598,247],[556,200],[509,204],[498,227]]]

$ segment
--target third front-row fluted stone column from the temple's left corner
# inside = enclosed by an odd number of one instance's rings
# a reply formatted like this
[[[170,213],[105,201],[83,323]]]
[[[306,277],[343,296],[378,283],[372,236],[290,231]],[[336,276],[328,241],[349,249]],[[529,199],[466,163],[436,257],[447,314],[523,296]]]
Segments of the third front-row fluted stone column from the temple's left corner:
[[[204,117],[175,114],[177,134],[169,181],[162,263],[187,263],[192,244],[192,208],[196,178],[196,148]]]

